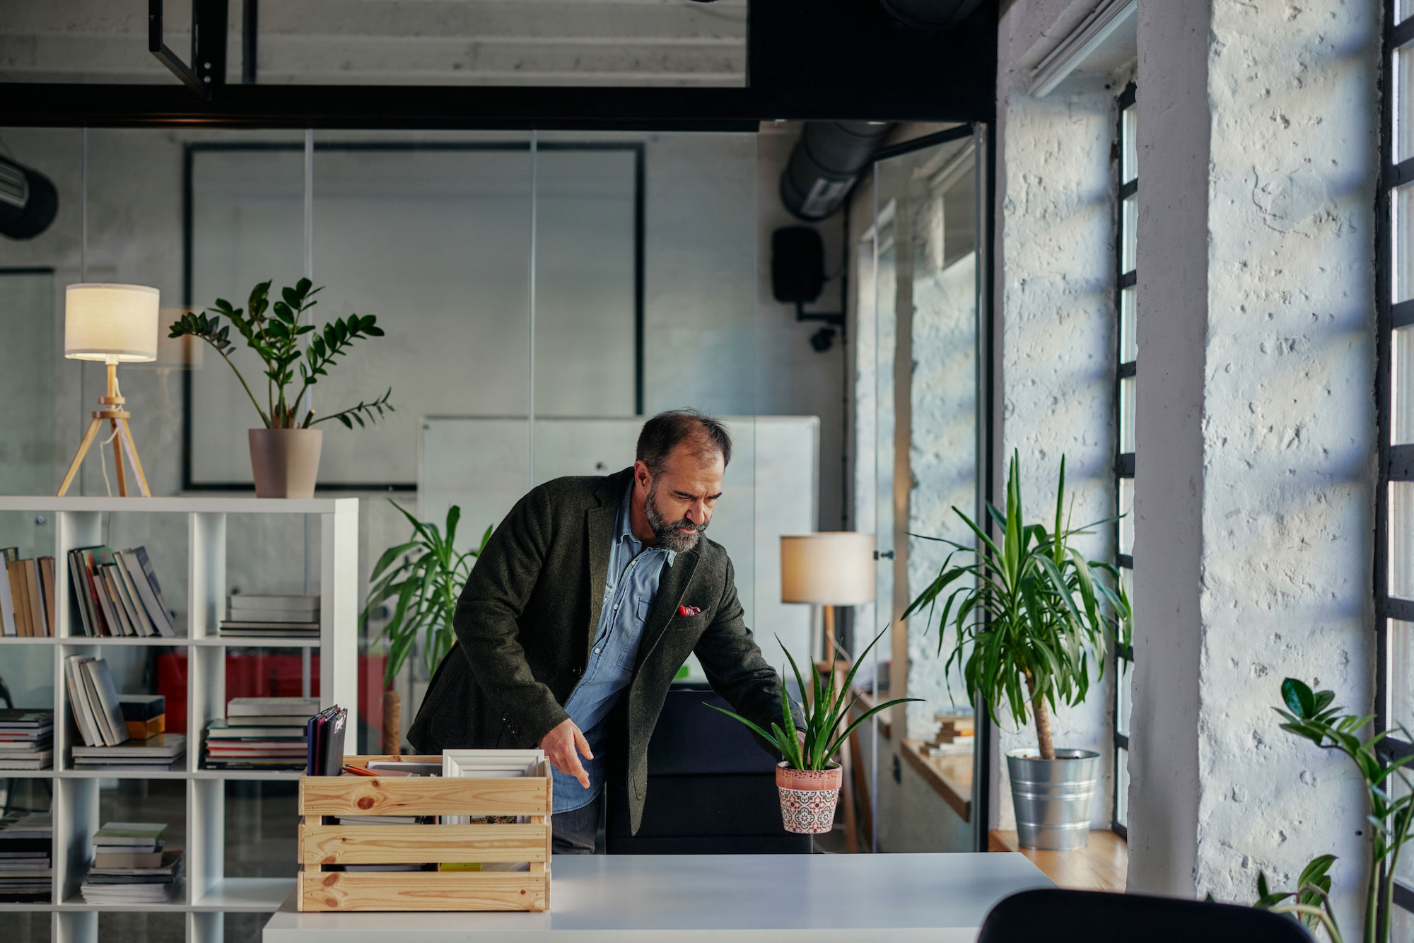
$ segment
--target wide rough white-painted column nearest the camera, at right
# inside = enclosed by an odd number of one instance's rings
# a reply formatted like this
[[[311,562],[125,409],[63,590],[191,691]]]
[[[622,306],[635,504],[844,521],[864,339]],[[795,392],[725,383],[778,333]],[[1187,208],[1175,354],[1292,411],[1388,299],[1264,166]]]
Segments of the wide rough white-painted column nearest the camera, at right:
[[[1140,4],[1130,882],[1250,902],[1367,828],[1284,676],[1370,707],[1373,3]]]

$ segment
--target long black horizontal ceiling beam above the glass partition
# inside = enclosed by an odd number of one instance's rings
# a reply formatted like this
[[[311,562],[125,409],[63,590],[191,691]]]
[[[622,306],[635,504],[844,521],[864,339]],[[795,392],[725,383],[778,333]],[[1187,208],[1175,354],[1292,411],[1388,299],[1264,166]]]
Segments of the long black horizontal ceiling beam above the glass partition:
[[[226,0],[195,0],[194,16]],[[252,4],[253,7],[253,4]],[[192,65],[211,100],[175,85],[8,83],[0,126],[467,130],[755,130],[771,120],[990,122],[997,7],[936,34],[871,0],[754,0],[748,88],[225,85],[219,54]],[[211,82],[204,66],[212,64]],[[218,71],[219,69],[219,71]]]

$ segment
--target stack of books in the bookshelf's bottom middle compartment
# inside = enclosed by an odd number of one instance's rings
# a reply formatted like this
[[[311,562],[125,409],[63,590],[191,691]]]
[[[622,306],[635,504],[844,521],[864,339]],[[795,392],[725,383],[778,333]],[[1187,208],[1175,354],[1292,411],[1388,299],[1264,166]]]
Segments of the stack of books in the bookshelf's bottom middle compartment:
[[[163,850],[167,826],[110,821],[93,833],[93,864],[79,892],[85,903],[161,903],[174,896],[181,851]]]

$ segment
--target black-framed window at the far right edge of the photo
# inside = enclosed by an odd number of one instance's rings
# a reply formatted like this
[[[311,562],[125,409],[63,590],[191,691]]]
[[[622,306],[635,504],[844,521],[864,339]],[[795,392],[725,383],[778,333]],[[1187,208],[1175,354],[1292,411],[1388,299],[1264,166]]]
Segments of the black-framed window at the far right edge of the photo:
[[[1394,756],[1414,752],[1414,3],[1384,0],[1384,96],[1380,115],[1380,199],[1376,317],[1380,488],[1376,496],[1374,714]],[[1396,872],[1396,935],[1414,923],[1414,855]],[[1400,939],[1404,939],[1403,936]]]

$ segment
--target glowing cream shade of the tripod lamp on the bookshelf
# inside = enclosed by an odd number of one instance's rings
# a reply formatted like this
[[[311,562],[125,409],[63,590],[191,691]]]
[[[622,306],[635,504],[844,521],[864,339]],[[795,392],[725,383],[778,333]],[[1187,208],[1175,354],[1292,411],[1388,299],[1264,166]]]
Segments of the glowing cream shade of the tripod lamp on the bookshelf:
[[[157,359],[158,291],[140,284],[71,284],[64,293],[64,356]]]

